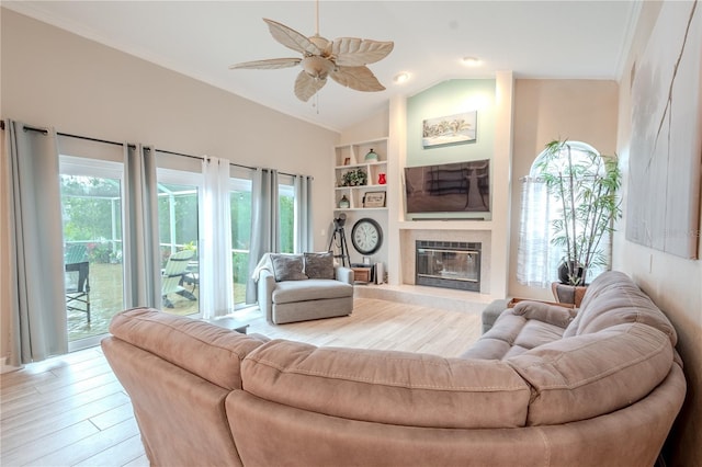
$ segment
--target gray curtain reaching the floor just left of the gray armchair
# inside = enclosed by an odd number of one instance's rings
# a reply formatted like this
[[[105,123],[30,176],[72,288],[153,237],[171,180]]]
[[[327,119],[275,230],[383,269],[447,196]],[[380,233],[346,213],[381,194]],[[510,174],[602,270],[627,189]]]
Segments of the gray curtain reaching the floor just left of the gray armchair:
[[[264,253],[280,250],[280,221],[278,212],[278,171],[256,169],[251,180],[251,243],[249,247],[249,275],[246,303],[256,303],[253,270]]]

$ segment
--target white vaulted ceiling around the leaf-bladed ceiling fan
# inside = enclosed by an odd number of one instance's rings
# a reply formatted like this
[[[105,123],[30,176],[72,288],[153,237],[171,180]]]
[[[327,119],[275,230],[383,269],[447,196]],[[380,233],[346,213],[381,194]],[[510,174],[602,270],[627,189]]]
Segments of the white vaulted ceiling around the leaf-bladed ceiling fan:
[[[297,54],[275,42],[268,18],[304,35],[315,1],[3,1],[2,5],[317,125],[342,130],[392,95],[439,82],[492,78],[619,79],[636,1],[319,2],[319,33],[393,41],[369,67],[387,88],[364,93],[331,80],[308,102],[293,93],[299,68],[229,70],[231,64]],[[462,62],[475,57],[479,66]],[[396,83],[400,73],[409,75]]]

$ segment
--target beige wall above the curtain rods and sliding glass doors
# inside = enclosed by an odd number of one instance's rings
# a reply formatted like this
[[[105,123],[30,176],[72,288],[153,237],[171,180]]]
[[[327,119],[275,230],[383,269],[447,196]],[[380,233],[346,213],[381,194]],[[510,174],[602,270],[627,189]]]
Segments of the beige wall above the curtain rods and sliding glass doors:
[[[327,248],[337,133],[7,9],[1,16],[2,118],[313,175],[315,248]],[[7,249],[3,241],[0,253]],[[0,261],[7,271],[8,257]],[[4,333],[4,317],[0,324]],[[1,345],[4,356],[7,339]]]

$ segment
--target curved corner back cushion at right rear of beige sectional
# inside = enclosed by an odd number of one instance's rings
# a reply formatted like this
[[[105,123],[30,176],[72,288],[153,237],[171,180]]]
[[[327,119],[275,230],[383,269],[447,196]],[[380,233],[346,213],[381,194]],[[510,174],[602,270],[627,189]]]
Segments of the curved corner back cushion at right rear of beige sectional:
[[[529,425],[585,420],[644,398],[670,372],[668,335],[622,323],[562,339],[508,358],[532,386]]]

